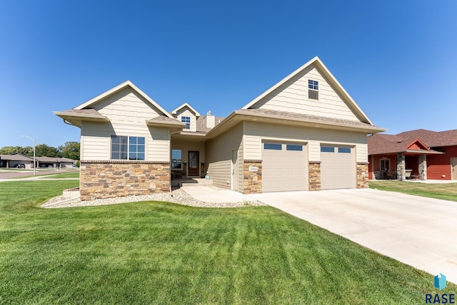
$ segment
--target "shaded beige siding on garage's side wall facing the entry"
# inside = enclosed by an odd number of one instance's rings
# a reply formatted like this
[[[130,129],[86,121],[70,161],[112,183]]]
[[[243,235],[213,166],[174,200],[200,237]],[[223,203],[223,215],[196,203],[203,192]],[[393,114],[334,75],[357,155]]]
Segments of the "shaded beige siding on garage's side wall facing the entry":
[[[206,142],[207,172],[214,185],[231,188],[231,151],[238,150],[238,191],[243,191],[243,123]],[[241,188],[240,188],[241,187]]]

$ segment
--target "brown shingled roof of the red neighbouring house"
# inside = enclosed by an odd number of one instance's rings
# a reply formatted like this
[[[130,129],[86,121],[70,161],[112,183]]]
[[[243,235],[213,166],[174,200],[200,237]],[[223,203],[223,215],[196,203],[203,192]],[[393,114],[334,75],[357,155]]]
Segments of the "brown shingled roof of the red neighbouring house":
[[[368,137],[368,155],[385,153],[440,153],[430,148],[457,145],[457,130],[436,132],[411,130],[398,135],[376,134]]]

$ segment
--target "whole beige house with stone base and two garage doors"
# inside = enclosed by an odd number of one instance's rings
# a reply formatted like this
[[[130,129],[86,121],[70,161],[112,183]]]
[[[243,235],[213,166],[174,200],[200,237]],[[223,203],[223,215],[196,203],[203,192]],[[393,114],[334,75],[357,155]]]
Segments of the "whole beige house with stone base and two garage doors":
[[[168,192],[173,176],[245,194],[368,187],[367,135],[385,131],[317,57],[224,119],[169,113],[130,81],[54,114],[81,128],[81,200]]]

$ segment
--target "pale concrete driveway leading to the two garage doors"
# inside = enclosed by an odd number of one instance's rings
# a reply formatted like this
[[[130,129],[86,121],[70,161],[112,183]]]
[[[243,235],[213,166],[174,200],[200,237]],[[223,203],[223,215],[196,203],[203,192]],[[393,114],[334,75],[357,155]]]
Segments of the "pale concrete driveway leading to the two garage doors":
[[[457,283],[457,202],[371,189],[250,197]]]

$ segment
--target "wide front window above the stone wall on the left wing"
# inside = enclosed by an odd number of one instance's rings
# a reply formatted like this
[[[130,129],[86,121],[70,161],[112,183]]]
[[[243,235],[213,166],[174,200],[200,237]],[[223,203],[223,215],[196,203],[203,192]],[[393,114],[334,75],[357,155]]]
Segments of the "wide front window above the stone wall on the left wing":
[[[112,160],[144,160],[144,137],[111,136]]]

